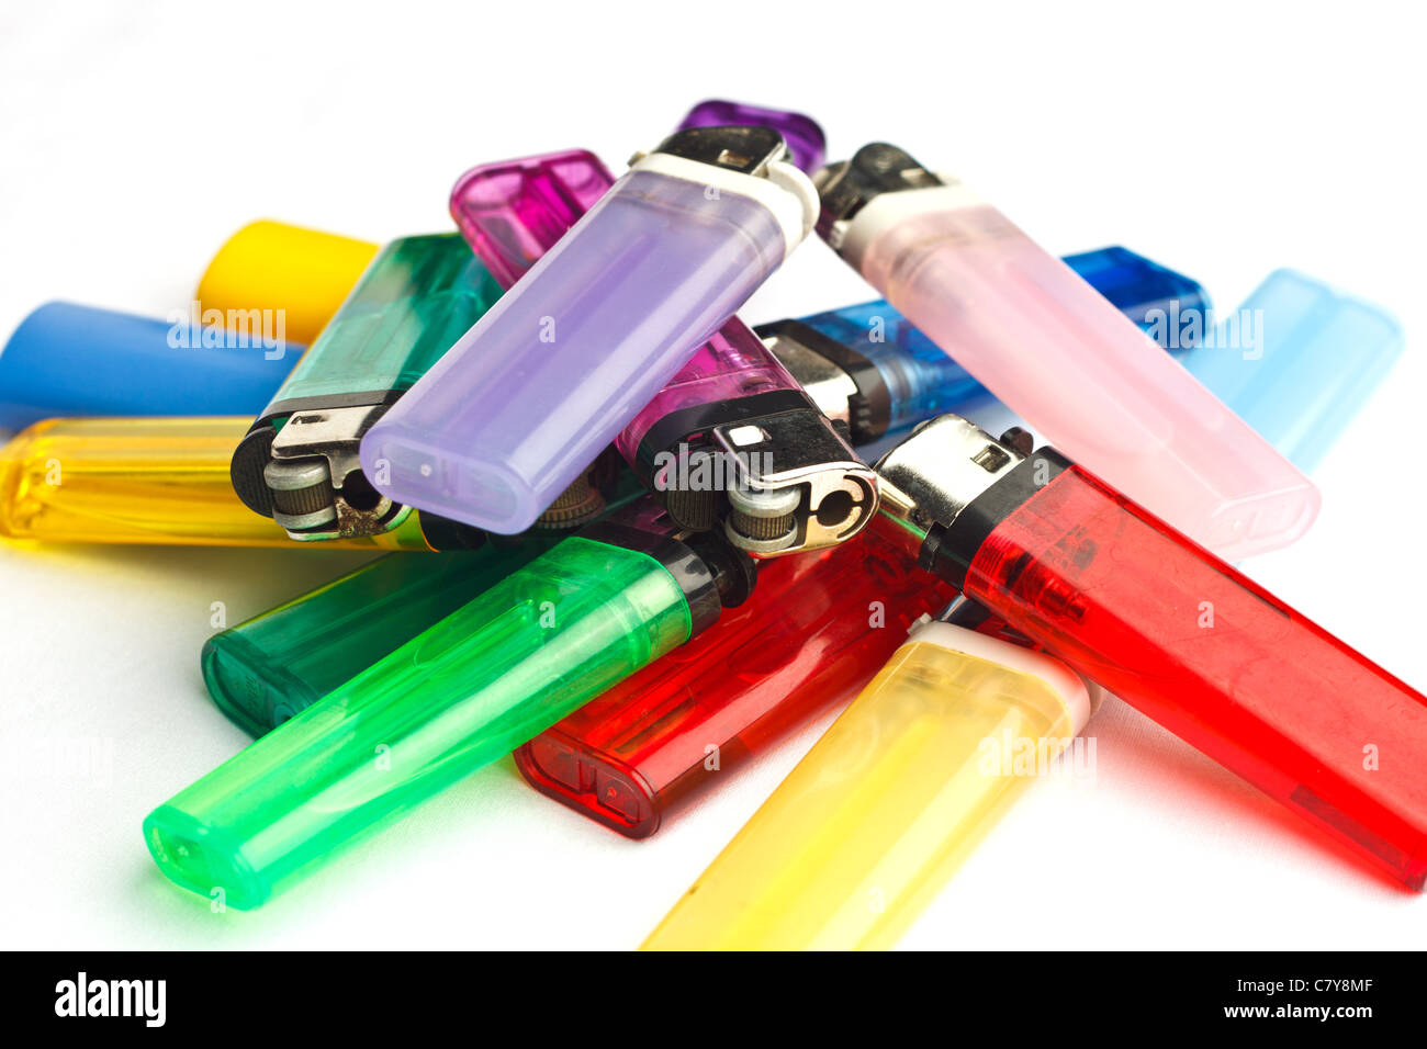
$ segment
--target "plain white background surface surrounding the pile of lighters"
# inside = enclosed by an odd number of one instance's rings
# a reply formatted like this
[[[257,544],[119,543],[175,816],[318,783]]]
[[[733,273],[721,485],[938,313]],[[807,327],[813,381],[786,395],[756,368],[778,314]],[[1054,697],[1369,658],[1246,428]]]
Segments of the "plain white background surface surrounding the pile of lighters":
[[[1423,686],[1421,40],[1367,3],[7,4],[0,335],[56,297],[178,308],[253,218],[450,228],[472,164],[581,146],[619,170],[701,98],[798,108],[831,158],[902,144],[1056,253],[1124,244],[1223,308],[1279,265],[1394,308],[1407,351],[1319,470],[1319,522],[1247,571]],[[743,317],[872,297],[811,243]],[[263,911],[210,913],[140,835],[245,742],[198,675],[210,607],[237,622],[360,559],[0,547],[6,946],[632,948],[816,738],[642,843],[502,761]],[[1139,714],[1090,734],[1095,781],[1035,784],[905,946],[1423,943],[1427,901]],[[46,756],[76,739],[111,768]]]

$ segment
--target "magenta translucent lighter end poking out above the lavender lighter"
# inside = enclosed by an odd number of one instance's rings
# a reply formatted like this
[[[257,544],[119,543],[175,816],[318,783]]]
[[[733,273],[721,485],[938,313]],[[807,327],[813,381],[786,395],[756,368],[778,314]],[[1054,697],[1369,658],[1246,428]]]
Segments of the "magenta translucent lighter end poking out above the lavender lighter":
[[[451,217],[508,288],[615,184],[588,150],[472,167],[451,190]]]

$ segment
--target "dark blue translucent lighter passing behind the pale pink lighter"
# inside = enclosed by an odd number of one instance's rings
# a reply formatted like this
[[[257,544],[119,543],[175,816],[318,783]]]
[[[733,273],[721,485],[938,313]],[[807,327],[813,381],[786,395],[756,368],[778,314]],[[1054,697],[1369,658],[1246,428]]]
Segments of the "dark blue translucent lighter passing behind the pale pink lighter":
[[[1122,247],[1066,255],[1065,264],[1146,331],[1163,317],[1207,317],[1209,294],[1187,277]],[[858,445],[873,444],[990,397],[948,351],[880,300],[756,328],[828,418]],[[1176,338],[1172,353],[1187,350]],[[1213,387],[1210,387],[1213,388]]]

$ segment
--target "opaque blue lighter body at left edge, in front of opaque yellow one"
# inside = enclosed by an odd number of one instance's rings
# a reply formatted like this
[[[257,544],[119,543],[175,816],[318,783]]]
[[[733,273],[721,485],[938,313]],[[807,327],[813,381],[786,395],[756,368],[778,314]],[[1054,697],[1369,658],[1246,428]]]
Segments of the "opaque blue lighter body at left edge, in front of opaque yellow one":
[[[265,323],[261,311],[158,318],[47,303],[0,351],[0,430],[46,418],[251,414],[301,351],[271,310]]]

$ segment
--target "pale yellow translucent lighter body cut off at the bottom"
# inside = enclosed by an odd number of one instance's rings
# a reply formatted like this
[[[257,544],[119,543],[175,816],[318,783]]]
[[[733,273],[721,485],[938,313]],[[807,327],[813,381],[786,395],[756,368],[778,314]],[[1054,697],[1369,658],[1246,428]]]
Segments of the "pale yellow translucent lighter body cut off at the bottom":
[[[1049,761],[1073,731],[1042,678],[913,638],[644,949],[892,946],[1032,782],[1039,761],[1002,761],[1003,741],[1032,741]]]

